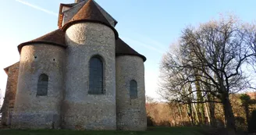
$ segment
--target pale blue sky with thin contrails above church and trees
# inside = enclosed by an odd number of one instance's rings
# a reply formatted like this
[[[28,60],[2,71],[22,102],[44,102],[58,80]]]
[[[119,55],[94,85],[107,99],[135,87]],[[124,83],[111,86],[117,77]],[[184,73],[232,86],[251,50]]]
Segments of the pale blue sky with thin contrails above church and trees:
[[[159,64],[170,44],[188,25],[197,26],[220,14],[232,13],[255,22],[255,0],[95,0],[117,21],[119,37],[147,57],[146,95],[158,99]],[[0,89],[5,92],[4,68],[18,62],[17,45],[58,29],[60,3],[74,0],[2,0],[0,9]]]

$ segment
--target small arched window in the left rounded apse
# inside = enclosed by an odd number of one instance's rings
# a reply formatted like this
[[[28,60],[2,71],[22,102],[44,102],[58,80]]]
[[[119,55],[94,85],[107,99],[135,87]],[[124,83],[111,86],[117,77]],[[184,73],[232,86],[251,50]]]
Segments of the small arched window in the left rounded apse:
[[[41,74],[37,82],[37,96],[46,96],[48,92],[48,76]]]

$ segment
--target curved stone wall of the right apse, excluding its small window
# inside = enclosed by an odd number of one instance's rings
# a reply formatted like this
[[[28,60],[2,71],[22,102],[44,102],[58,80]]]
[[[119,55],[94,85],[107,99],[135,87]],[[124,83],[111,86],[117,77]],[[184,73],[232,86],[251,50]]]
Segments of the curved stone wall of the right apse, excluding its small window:
[[[137,98],[130,98],[130,80],[137,81]],[[116,57],[116,117],[118,130],[146,130],[144,62],[138,56]]]

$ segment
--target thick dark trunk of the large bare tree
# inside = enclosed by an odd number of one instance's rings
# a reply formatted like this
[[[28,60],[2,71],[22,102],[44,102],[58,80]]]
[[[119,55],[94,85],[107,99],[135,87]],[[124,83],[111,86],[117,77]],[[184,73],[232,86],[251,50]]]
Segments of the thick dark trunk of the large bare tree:
[[[226,128],[228,135],[236,135],[235,117],[233,115],[232,106],[229,101],[229,94],[222,94],[222,105],[226,120]]]

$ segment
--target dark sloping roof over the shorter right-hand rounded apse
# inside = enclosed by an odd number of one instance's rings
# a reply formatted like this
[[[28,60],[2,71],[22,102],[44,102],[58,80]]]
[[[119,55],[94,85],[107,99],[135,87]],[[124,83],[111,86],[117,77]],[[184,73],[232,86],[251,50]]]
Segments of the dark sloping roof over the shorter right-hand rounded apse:
[[[120,38],[116,40],[116,56],[119,55],[137,55],[146,61],[146,57],[144,55],[140,55],[138,52],[133,50],[126,42],[122,41]]]

